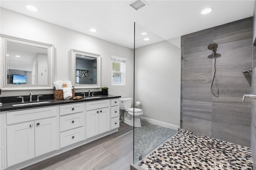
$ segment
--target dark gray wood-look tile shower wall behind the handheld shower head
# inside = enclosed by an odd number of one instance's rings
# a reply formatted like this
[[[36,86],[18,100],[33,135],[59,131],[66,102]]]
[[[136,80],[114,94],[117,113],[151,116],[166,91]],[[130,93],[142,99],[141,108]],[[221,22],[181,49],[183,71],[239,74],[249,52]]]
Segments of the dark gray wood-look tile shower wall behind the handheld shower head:
[[[216,79],[219,93],[210,91],[212,51],[217,43]],[[227,142],[250,146],[252,17],[181,37],[182,128]]]

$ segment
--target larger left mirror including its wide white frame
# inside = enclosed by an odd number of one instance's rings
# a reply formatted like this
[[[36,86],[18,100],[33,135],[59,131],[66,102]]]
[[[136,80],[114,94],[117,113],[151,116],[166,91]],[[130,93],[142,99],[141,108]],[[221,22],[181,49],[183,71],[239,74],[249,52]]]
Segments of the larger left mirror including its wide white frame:
[[[1,36],[2,90],[53,89],[54,45]]]

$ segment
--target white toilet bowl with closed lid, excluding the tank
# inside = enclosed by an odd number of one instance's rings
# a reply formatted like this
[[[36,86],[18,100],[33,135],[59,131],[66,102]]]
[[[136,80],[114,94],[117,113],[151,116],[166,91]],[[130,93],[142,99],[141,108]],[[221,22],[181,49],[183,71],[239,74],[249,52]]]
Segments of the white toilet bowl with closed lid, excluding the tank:
[[[133,115],[133,109],[134,109],[134,115]],[[142,115],[143,115],[143,112],[141,109],[138,109],[138,108],[127,109],[124,113],[124,123],[132,127],[133,126],[141,127],[140,117]]]

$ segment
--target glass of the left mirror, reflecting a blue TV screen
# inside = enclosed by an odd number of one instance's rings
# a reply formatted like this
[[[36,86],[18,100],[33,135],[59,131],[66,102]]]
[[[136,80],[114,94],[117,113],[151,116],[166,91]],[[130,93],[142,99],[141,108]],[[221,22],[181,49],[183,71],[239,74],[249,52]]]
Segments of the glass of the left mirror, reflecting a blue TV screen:
[[[48,49],[6,42],[7,84],[48,84]]]

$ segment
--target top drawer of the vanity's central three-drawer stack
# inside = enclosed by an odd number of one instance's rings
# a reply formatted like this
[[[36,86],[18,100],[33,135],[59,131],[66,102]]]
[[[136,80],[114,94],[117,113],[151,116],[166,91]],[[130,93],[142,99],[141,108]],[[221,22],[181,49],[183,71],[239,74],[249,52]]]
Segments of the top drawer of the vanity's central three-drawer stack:
[[[60,115],[68,115],[84,111],[84,103],[60,106]]]

